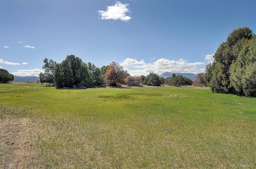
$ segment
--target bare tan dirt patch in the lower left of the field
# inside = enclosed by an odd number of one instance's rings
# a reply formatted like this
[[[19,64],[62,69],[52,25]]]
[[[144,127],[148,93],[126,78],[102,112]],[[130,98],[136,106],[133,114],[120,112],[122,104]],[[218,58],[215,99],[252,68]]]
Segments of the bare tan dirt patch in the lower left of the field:
[[[0,168],[33,168],[39,125],[29,118],[0,120]]]

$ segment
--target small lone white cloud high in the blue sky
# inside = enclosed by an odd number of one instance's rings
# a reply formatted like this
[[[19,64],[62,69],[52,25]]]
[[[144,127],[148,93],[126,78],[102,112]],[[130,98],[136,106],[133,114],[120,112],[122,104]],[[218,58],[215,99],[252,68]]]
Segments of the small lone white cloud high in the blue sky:
[[[126,16],[127,12],[130,12],[130,10],[126,7],[129,6],[129,4],[122,4],[119,1],[116,1],[116,4],[113,6],[107,6],[106,11],[99,10],[99,15],[101,16],[100,19],[102,20],[122,20],[124,22],[127,22],[131,19],[130,16]]]

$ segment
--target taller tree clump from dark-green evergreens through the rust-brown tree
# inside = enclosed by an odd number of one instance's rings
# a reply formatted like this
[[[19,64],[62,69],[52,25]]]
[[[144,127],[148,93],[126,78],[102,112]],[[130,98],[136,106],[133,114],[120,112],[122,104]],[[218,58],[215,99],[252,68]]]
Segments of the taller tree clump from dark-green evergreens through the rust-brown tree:
[[[44,59],[44,73],[39,74],[41,83],[57,88],[90,88],[94,86],[117,86],[124,84],[129,74],[118,63],[96,67],[93,63],[84,63],[79,57],[68,55],[61,63]]]

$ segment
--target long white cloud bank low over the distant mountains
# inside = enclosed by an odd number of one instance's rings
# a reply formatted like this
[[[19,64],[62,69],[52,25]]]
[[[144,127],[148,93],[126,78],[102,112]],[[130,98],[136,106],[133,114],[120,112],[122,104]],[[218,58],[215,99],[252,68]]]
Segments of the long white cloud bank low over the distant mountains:
[[[198,69],[202,62],[188,63],[184,59],[179,59],[178,61],[168,60],[168,59],[158,59],[153,63],[145,63],[144,60],[137,61],[136,59],[125,59],[121,65],[124,70],[128,71],[132,76],[148,75],[149,73],[164,73],[164,72],[174,72],[174,73],[200,73],[201,69]]]

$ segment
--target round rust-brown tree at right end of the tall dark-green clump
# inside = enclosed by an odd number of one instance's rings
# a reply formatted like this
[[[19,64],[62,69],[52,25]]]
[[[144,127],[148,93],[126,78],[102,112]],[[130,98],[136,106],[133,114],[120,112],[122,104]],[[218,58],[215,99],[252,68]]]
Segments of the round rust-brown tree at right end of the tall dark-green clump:
[[[105,80],[112,86],[117,86],[118,83],[124,84],[126,72],[123,67],[116,62],[110,63],[105,73]]]

